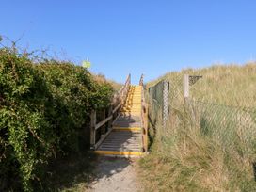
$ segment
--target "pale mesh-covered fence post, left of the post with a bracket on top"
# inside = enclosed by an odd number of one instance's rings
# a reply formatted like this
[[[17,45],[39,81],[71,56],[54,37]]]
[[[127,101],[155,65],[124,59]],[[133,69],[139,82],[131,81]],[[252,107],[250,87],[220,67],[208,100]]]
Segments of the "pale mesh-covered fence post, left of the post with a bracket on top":
[[[166,127],[168,120],[168,90],[169,90],[169,82],[165,80],[163,82],[163,126]]]

